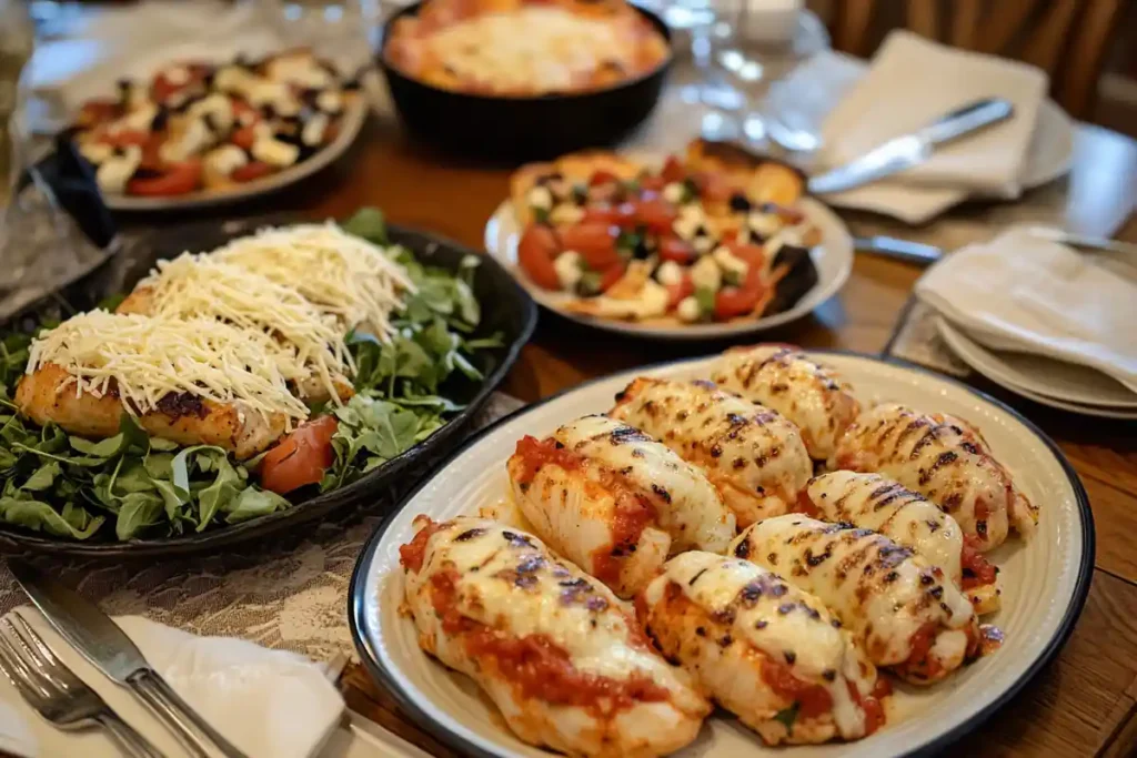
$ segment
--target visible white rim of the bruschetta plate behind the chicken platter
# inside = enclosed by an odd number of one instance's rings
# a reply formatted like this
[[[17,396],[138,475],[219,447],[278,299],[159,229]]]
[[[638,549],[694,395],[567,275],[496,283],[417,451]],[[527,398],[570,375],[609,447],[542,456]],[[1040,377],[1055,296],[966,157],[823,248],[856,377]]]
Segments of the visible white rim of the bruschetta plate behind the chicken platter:
[[[797,301],[789,310],[763,318],[750,318],[727,324],[687,324],[680,326],[661,326],[655,324],[637,324],[609,318],[592,318],[582,314],[573,314],[564,309],[564,303],[574,297],[566,292],[549,292],[533,284],[517,266],[517,240],[521,230],[513,213],[513,203],[506,200],[485,224],[485,250],[505,266],[517,283],[529,292],[538,303],[554,310],[565,318],[597,328],[634,336],[663,338],[667,340],[706,340],[723,336],[753,334],[763,330],[786,324],[805,316],[823,303],[848,281],[853,270],[853,238],[845,222],[813,198],[803,198],[800,210],[805,217],[821,231],[821,244],[810,251],[813,265],[818,268],[818,283]]]

